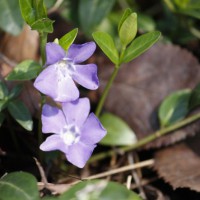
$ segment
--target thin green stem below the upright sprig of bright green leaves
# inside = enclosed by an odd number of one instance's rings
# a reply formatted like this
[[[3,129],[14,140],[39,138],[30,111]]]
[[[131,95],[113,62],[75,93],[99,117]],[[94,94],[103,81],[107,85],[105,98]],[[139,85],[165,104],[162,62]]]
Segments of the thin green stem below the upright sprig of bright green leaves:
[[[97,105],[96,112],[95,112],[97,117],[99,117],[99,115],[101,113],[101,110],[103,108],[103,105],[104,105],[104,102],[106,100],[106,97],[108,96],[108,92],[109,92],[109,90],[110,90],[110,88],[112,86],[112,83],[113,83],[118,71],[119,71],[119,67],[116,66],[114,71],[113,71],[113,73],[112,73],[112,75],[111,75],[111,77],[110,77],[110,80],[108,81],[108,83],[107,83],[107,85],[106,85],[106,87],[105,87],[105,89],[103,91],[103,94],[102,94],[102,96],[101,96],[101,98],[99,100],[99,103]]]

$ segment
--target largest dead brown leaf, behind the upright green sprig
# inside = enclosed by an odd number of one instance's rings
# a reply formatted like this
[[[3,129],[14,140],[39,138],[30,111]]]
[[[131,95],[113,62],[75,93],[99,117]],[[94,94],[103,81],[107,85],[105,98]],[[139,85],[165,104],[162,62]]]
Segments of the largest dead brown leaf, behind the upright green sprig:
[[[102,93],[113,66],[100,68]],[[200,65],[187,50],[171,44],[157,44],[119,71],[105,102],[105,109],[124,119],[143,138],[159,128],[157,108],[171,92],[193,88],[200,81]],[[164,136],[146,147],[160,147],[200,130],[200,123]],[[195,130],[194,130],[195,129]]]

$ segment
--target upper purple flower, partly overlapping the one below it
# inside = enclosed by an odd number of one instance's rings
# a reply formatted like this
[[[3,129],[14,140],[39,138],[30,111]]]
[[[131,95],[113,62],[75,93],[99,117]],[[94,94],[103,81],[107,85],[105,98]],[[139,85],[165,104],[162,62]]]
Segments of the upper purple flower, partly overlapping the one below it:
[[[35,88],[58,102],[73,101],[79,97],[74,81],[87,89],[97,89],[99,86],[97,66],[79,64],[87,60],[95,49],[94,42],[72,44],[66,53],[58,44],[47,43],[45,64],[47,67],[36,78]]]

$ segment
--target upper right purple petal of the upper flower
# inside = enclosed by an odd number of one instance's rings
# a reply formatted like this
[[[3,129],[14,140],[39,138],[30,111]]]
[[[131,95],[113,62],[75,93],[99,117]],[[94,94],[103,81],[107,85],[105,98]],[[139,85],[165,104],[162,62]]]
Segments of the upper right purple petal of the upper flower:
[[[96,44],[87,42],[85,44],[72,44],[69,47],[67,57],[74,63],[81,63],[87,60],[95,51]]]

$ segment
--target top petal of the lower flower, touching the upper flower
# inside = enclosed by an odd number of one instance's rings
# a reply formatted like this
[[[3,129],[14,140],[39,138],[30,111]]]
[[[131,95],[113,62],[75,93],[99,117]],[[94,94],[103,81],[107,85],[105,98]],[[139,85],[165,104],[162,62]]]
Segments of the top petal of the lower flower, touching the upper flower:
[[[81,128],[90,112],[90,102],[88,98],[80,98],[73,102],[63,103],[62,109],[67,124],[75,124]]]

